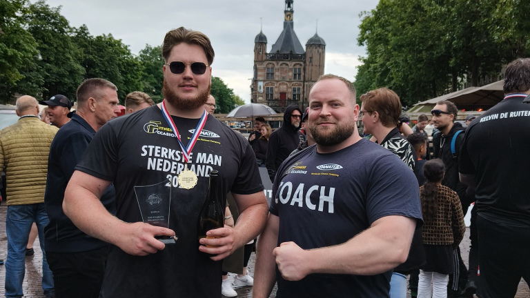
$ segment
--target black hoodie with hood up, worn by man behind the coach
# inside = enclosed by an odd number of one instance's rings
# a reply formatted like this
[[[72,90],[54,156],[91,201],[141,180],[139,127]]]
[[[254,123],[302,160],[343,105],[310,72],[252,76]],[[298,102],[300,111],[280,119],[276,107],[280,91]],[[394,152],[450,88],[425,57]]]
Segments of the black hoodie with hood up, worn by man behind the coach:
[[[265,166],[267,167],[268,177],[274,182],[276,170],[284,162],[284,160],[298,148],[298,144],[306,140],[306,137],[300,132],[302,127],[302,119],[300,125],[294,127],[291,124],[291,113],[297,110],[300,115],[303,115],[302,110],[292,104],[285,109],[284,124],[281,128],[275,130],[271,137],[268,138],[267,155],[265,159]]]

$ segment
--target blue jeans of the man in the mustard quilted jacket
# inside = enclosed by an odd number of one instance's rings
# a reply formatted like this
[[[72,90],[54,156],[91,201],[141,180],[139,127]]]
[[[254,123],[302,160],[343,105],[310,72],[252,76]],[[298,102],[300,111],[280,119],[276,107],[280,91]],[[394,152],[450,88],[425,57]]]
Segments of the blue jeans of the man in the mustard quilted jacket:
[[[6,297],[22,297],[22,281],[26,274],[26,245],[33,222],[37,224],[42,257],[42,288],[44,295],[54,292],[53,275],[44,250],[44,227],[48,215],[44,203],[8,206],[6,233],[8,235],[8,257],[6,259]]]

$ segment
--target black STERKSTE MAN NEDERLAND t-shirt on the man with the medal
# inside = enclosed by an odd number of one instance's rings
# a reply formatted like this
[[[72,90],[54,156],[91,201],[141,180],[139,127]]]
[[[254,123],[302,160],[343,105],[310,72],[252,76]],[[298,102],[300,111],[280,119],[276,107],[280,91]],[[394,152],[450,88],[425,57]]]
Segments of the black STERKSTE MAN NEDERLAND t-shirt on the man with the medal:
[[[199,119],[173,117],[184,145]],[[111,246],[102,297],[219,297],[222,262],[199,252],[197,219],[208,192],[210,170],[219,171],[222,195],[262,191],[254,152],[248,141],[212,115],[193,148],[190,165],[199,177],[190,190],[179,188],[184,169],[181,149],[158,106],[109,121],[97,132],[76,170],[108,181],[116,188],[117,217],[141,221],[135,186],[168,181],[170,224],[179,239],[146,257]],[[223,202],[224,205],[224,202]]]

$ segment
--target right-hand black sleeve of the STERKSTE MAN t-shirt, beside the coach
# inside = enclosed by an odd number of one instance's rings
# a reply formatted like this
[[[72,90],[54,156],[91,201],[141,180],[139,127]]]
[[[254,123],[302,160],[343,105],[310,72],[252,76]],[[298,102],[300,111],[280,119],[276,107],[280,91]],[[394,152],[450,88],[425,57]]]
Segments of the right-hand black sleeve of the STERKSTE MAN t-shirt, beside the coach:
[[[243,140],[241,146],[241,161],[239,162],[237,177],[235,177],[230,191],[239,195],[251,195],[263,191],[262,177],[259,175],[252,147],[246,143],[246,140]]]

